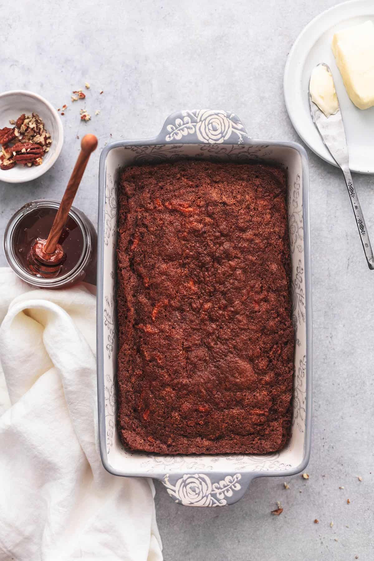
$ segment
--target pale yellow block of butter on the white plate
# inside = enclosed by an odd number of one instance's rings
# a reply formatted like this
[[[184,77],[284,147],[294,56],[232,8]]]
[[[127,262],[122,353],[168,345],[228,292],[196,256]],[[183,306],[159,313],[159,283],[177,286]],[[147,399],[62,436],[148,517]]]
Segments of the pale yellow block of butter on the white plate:
[[[374,105],[374,25],[372,21],[335,33],[332,48],[345,89],[359,109]]]

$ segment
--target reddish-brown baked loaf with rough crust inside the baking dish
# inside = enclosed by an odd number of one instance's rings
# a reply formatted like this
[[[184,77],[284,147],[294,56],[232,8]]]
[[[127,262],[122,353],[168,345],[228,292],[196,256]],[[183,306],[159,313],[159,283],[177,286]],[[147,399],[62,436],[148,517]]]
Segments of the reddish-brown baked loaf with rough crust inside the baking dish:
[[[119,188],[118,428],[129,448],[265,453],[290,426],[285,174],[128,167]]]

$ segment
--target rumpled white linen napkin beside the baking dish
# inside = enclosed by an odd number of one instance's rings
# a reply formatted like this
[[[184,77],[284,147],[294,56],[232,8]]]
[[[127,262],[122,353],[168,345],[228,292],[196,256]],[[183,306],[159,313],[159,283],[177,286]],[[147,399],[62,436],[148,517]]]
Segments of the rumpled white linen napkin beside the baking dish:
[[[0,559],[160,561],[151,480],[98,444],[95,296],[0,269]]]

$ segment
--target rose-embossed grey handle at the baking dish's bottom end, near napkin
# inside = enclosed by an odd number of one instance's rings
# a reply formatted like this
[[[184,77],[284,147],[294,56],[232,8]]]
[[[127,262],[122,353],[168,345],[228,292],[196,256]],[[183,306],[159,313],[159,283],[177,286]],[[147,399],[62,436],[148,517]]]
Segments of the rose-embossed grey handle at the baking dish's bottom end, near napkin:
[[[254,476],[248,473],[167,473],[169,496],[187,507],[224,507],[242,498]]]

